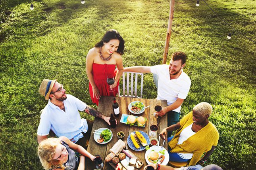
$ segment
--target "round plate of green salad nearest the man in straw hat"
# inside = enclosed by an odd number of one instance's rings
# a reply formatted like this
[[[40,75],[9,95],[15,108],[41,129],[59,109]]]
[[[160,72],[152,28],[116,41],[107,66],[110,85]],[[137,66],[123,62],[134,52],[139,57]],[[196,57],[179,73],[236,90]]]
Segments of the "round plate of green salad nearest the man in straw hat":
[[[106,144],[112,140],[113,133],[108,128],[99,128],[95,130],[93,138],[98,144]]]

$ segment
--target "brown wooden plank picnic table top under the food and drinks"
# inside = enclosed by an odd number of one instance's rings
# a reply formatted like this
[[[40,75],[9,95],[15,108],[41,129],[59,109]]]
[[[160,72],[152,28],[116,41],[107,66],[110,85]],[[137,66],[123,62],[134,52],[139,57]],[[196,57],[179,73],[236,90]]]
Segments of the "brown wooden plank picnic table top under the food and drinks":
[[[111,113],[113,113],[113,98],[111,96],[101,96],[99,104],[98,104],[98,111],[100,111],[102,114],[106,116],[110,116]],[[157,131],[157,136],[160,134],[163,128],[167,127],[167,115],[164,117],[159,117],[157,120],[153,116],[155,110],[154,107],[156,105],[160,105],[162,107],[167,106],[166,100],[156,100],[156,99],[144,99],[144,98],[129,98],[129,97],[116,97],[116,101],[119,104],[119,109],[120,109],[120,115],[119,117],[115,117],[117,120],[117,127],[111,128],[105,121],[102,121],[102,119],[95,118],[93,127],[92,127],[92,132],[90,134],[90,141],[89,141],[89,146],[87,150],[92,154],[92,155],[100,155],[102,157],[102,161],[105,160],[106,156],[109,153],[109,149],[112,148],[112,146],[119,140],[117,137],[117,132],[123,131],[125,133],[125,137],[123,137],[121,140],[125,141],[127,140],[127,137],[131,132],[141,130],[143,132],[146,132],[147,134],[150,132],[150,125],[153,121],[158,121],[158,131]],[[128,114],[131,115],[131,113],[128,110],[128,105],[133,102],[133,101],[141,101],[145,104],[145,106],[149,106],[149,108],[146,108],[144,113],[141,113],[140,115],[135,115],[135,116],[143,116],[146,117],[148,120],[146,121],[145,127],[137,127],[137,126],[129,126],[124,123],[120,123],[120,118],[122,114]],[[106,127],[109,128],[112,133],[113,133],[113,138],[108,144],[98,144],[97,142],[94,141],[93,138],[93,132],[94,130],[97,130],[98,128]],[[150,138],[150,136],[149,136]],[[163,144],[163,140],[160,139],[160,145]],[[167,149],[167,142],[165,142],[164,147]],[[141,161],[144,162],[143,166],[140,168],[142,170],[144,166],[147,165],[146,160],[145,160],[145,153],[146,150],[143,151],[133,151],[129,146],[128,146],[129,151],[131,151],[133,154],[135,154]],[[89,160],[87,158],[86,160],[86,170],[93,170],[96,169],[95,164],[93,161]],[[104,168],[103,170],[114,170],[112,166],[108,162],[104,161]]]

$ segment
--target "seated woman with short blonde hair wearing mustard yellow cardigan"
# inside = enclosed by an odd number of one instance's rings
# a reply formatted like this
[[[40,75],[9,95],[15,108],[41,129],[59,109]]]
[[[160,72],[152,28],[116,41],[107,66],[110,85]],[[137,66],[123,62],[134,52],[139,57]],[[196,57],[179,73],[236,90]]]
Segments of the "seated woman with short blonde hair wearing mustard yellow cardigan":
[[[209,103],[199,103],[181,121],[162,130],[160,136],[168,141],[171,165],[202,165],[210,157],[219,140],[217,128],[208,120],[211,113]],[[173,130],[177,130],[176,134],[167,139],[167,132]],[[206,154],[200,159],[204,152]]]

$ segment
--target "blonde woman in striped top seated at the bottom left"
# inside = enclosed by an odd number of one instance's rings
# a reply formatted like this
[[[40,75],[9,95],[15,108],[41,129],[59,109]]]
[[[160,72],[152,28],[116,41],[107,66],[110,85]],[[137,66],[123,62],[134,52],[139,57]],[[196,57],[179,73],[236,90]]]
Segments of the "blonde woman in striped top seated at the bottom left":
[[[80,160],[75,155],[75,151],[81,153]],[[89,157],[92,161],[94,159],[85,148],[71,142],[65,136],[43,140],[38,146],[38,156],[46,170],[84,170],[85,157]]]

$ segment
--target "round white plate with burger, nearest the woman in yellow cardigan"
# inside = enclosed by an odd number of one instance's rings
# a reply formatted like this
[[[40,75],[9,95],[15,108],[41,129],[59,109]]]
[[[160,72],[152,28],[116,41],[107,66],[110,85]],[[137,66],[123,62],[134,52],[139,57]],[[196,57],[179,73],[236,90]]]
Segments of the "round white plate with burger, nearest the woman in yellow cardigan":
[[[145,159],[148,164],[167,165],[169,162],[169,153],[162,146],[151,146],[145,153]]]

